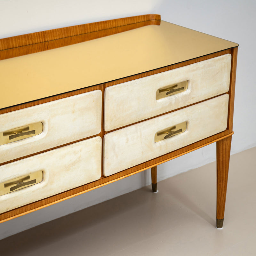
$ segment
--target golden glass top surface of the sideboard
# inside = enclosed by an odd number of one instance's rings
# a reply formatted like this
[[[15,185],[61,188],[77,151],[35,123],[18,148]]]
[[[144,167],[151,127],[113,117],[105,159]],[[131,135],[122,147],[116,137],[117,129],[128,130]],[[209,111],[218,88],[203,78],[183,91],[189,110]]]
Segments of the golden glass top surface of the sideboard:
[[[238,44],[161,21],[0,61],[0,108],[161,68]]]

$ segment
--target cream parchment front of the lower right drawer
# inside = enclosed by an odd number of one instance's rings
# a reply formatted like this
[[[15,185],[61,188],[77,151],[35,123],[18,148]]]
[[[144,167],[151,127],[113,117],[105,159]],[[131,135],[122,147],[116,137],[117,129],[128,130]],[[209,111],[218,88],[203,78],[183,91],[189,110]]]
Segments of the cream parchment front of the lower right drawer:
[[[227,118],[228,94],[224,94],[163,116],[109,132],[104,136],[104,175],[120,172],[222,132],[227,128]],[[186,128],[182,131],[179,126],[184,122]],[[165,136],[162,138],[159,136],[160,141],[157,141],[157,133],[161,133],[165,129],[168,130],[166,139],[164,139]],[[180,133],[172,134],[175,131],[180,131]]]

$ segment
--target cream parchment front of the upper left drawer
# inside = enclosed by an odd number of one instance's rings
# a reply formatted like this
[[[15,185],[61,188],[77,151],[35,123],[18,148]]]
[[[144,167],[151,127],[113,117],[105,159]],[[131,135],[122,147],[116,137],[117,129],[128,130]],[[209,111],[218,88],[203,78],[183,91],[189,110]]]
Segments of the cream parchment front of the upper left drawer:
[[[0,115],[0,136],[21,126],[43,124],[43,132],[36,136],[0,144],[0,163],[98,134],[101,97],[96,90]]]

